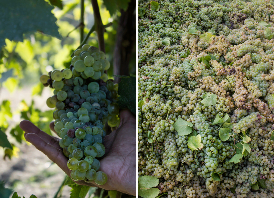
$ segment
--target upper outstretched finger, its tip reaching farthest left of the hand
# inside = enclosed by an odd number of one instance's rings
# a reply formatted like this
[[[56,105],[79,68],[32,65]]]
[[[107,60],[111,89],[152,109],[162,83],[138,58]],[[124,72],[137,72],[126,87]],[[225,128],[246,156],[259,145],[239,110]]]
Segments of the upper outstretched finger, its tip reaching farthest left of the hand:
[[[52,146],[56,147],[57,149],[61,149],[59,145],[59,138],[50,136],[49,134],[45,133],[44,131],[40,130],[37,126],[35,126],[32,122],[28,120],[23,120],[19,124],[20,128],[27,133],[35,133],[37,136],[42,138],[46,143],[51,144]],[[26,136],[25,136],[26,138]]]

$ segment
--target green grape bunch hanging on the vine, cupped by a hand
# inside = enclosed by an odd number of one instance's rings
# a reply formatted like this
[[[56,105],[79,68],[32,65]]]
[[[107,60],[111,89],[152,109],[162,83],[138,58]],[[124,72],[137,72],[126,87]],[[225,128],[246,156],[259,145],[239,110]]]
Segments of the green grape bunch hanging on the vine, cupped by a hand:
[[[104,73],[110,67],[105,57],[98,48],[85,44],[74,52],[70,69],[55,69],[40,77],[44,86],[54,88],[54,96],[46,103],[56,108],[54,129],[69,158],[71,178],[98,185],[107,182],[107,175],[98,171],[100,162],[96,159],[105,154],[104,124],[114,127],[120,122],[118,84]]]

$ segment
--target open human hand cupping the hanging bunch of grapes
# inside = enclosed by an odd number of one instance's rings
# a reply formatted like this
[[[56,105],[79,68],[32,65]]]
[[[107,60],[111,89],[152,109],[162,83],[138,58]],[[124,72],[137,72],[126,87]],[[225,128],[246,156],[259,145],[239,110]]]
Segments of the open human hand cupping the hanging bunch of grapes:
[[[106,153],[100,160],[99,171],[107,174],[107,182],[102,186],[95,182],[75,182],[80,185],[117,190],[136,196],[136,118],[128,109],[120,111],[120,118],[118,129],[104,137]],[[23,120],[20,123],[20,128],[25,131],[24,136],[28,142],[47,155],[70,176],[71,170],[67,167],[68,157],[63,154],[63,149],[59,146],[59,138],[41,131],[28,120]],[[50,129],[54,131],[53,122],[50,124]]]

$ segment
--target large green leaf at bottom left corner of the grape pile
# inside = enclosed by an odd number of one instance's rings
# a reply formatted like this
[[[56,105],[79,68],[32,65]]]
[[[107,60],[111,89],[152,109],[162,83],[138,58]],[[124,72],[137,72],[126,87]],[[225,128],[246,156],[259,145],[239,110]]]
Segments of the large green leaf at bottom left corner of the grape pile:
[[[153,176],[144,175],[138,178],[138,195],[143,198],[155,198],[160,190],[156,187],[159,179]]]

